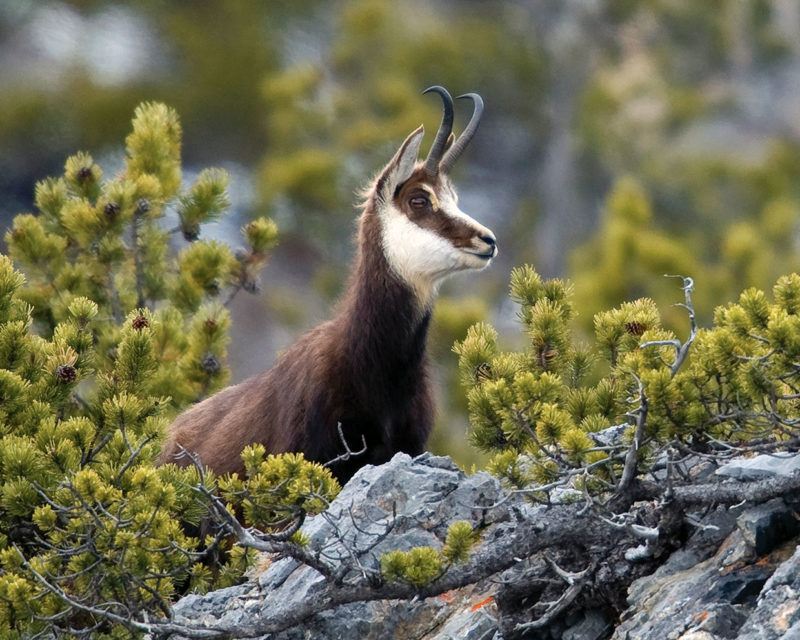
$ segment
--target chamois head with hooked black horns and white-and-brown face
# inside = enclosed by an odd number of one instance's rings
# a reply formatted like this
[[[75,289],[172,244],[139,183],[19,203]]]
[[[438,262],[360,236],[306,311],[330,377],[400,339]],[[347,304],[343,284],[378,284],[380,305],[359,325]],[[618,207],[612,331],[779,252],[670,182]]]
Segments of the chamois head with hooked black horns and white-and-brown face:
[[[400,146],[381,172],[372,193],[381,223],[383,252],[392,271],[423,303],[428,303],[443,278],[466,269],[484,269],[497,255],[494,233],[458,207],[450,170],[475,134],[483,112],[476,93],[474,110],[464,132],[454,140],[453,99],[446,89],[438,93],[444,116],[424,162],[417,162],[424,129],[420,126]]]

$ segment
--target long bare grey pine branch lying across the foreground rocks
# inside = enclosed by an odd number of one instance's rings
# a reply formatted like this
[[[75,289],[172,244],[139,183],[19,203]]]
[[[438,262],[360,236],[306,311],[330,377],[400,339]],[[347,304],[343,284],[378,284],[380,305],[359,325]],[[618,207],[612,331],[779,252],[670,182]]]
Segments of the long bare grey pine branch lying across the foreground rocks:
[[[655,483],[637,483],[637,497],[658,500],[663,496],[664,487]],[[753,503],[764,502],[771,498],[791,495],[800,490],[800,472],[790,477],[770,478],[754,483],[709,483],[696,486],[677,486],[673,488],[673,501],[681,506],[701,506],[712,504],[735,504],[742,500]],[[215,509],[227,514],[226,520],[231,517],[219,500],[216,500]],[[584,513],[582,513],[584,512]],[[290,627],[301,624],[309,617],[334,609],[343,604],[353,602],[370,602],[376,600],[397,600],[427,598],[439,595],[452,589],[474,584],[480,580],[497,575],[518,564],[521,560],[529,558],[535,553],[551,549],[595,549],[597,553],[604,554],[618,547],[626,539],[644,537],[652,538],[652,531],[638,535],[638,529],[630,528],[607,519],[597,518],[593,513],[585,513],[582,505],[556,505],[537,512],[537,519],[518,520],[508,528],[503,535],[494,538],[491,544],[481,545],[471,556],[470,560],[459,566],[452,566],[444,575],[428,585],[415,587],[405,583],[382,583],[376,585],[368,579],[358,579],[354,583],[337,583],[336,580],[326,580],[320,585],[313,599],[299,604],[290,613],[286,611],[261,610],[258,616],[250,618],[247,622],[239,624],[216,623],[208,626],[195,627],[190,623],[181,623],[176,620],[153,620],[143,623],[122,616],[113,611],[99,607],[90,607],[80,602],[75,602],[68,594],[57,586],[52,585],[41,574],[35,573],[37,580],[49,591],[55,593],[78,610],[86,611],[92,615],[104,616],[106,619],[126,624],[130,628],[140,631],[168,635],[180,634],[188,638],[255,638],[269,633],[277,633]],[[286,553],[293,545],[275,543],[255,538],[251,532],[241,525],[236,527],[237,535],[242,534],[245,540],[251,540],[254,548],[261,547],[269,551]],[[633,535],[632,535],[633,534]],[[322,575],[334,576],[338,570],[330,565],[320,566],[318,559],[302,548],[295,550],[300,553],[295,557],[298,561],[309,564]],[[291,554],[290,554],[291,555]],[[306,560],[310,560],[306,562]],[[23,558],[23,562],[24,558]],[[352,566],[352,565],[351,565]],[[29,565],[26,563],[26,568]],[[33,569],[30,568],[32,571]],[[320,570],[322,569],[322,570]],[[571,574],[563,572],[564,576],[575,580],[559,600],[551,604],[548,613],[540,620],[551,620],[558,612],[565,610],[571,602],[578,597],[583,581],[593,575]],[[561,574],[559,574],[561,575]],[[566,580],[569,582],[569,580]],[[255,596],[259,597],[259,596]],[[536,624],[534,621],[531,624]],[[533,627],[531,627],[533,628]]]

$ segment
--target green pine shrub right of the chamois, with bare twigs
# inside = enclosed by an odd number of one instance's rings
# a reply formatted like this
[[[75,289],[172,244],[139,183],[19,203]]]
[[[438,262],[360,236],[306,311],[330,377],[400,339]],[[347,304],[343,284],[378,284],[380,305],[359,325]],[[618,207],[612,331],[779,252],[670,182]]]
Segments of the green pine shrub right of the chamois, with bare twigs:
[[[585,345],[571,332],[571,285],[515,269],[527,347],[502,351],[479,323],[454,348],[471,438],[493,454],[490,470],[534,499],[563,487],[603,500],[629,482],[626,466],[630,476],[690,453],[724,459],[797,444],[800,276],[781,277],[771,298],[744,291],[708,329],[696,326],[694,283],[682,280],[685,340],[642,298],[597,313]]]

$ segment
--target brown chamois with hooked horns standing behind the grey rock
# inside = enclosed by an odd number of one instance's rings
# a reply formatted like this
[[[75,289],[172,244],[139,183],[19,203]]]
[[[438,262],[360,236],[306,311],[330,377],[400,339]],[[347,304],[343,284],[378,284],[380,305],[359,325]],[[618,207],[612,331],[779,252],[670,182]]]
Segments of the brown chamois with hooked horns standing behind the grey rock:
[[[424,129],[413,131],[365,192],[355,264],[333,318],[269,370],[179,415],[159,464],[188,464],[185,449],[216,473],[241,473],[242,449],[260,442],[268,453],[333,461],[332,473],[346,482],[397,452],[422,453],[434,417],[425,339],[438,285],[451,273],[485,268],[497,254],[494,234],[458,208],[449,178],[483,100],[459,96],[472,100],[473,114],[454,141],[450,94],[439,86],[427,92],[444,103],[436,138],[418,163]],[[359,449],[362,441],[362,455],[341,455],[344,443]]]

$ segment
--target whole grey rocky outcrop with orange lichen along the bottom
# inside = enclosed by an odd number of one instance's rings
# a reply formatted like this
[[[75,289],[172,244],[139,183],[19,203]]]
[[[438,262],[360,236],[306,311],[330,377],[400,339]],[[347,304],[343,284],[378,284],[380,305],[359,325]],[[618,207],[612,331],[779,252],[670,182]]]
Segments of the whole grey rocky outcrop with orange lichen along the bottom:
[[[752,468],[751,460],[735,464]],[[757,477],[792,473],[787,470],[798,461],[780,462],[755,465]],[[726,483],[743,482],[731,479],[740,477],[744,476],[738,471],[720,474]],[[512,594],[519,599],[514,606],[530,606],[524,604],[526,594],[547,595],[547,585],[554,582],[552,573],[547,574],[553,566],[549,557],[538,554],[515,564],[513,545],[511,568],[467,586],[433,597],[356,601],[318,612],[310,604],[329,597],[328,581],[297,560],[265,556],[249,582],[181,600],[175,606],[175,622],[237,629],[238,635],[232,637],[264,640],[500,640],[515,634],[566,640],[797,640],[800,519],[795,507],[791,500],[777,498],[692,514],[693,533],[654,566],[647,565],[649,575],[633,579],[644,569],[626,563],[624,549],[618,560],[609,560],[602,568],[617,572],[619,580],[630,585],[627,600],[623,596],[616,609],[598,605],[595,593],[576,599],[541,627],[504,625]],[[481,532],[481,544],[491,546],[507,543],[520,523],[546,522],[548,513],[545,507],[509,498],[486,473],[465,475],[448,458],[425,454],[412,460],[398,454],[385,465],[362,469],[330,509],[307,522],[303,531],[321,558],[341,560],[349,567],[337,576],[347,585],[374,576],[387,551],[423,545],[441,548],[455,520],[470,522]],[[586,520],[576,521],[575,526],[586,526]],[[529,529],[526,539],[535,531]],[[306,610],[308,616],[298,615]],[[258,635],[264,628],[260,621],[267,617],[301,621]]]

